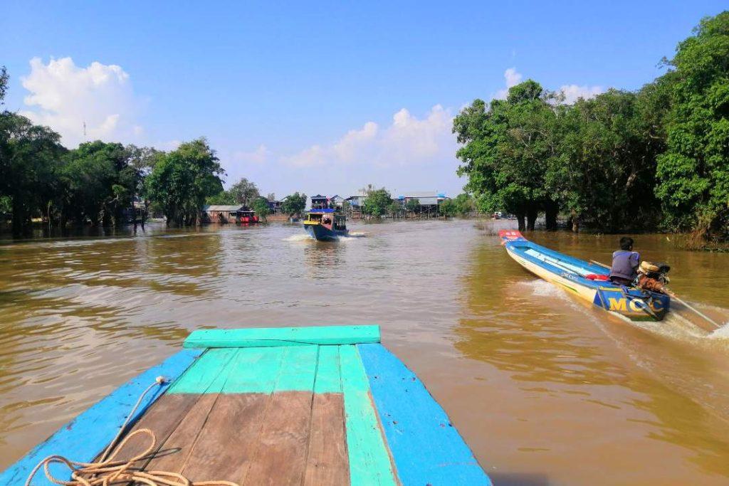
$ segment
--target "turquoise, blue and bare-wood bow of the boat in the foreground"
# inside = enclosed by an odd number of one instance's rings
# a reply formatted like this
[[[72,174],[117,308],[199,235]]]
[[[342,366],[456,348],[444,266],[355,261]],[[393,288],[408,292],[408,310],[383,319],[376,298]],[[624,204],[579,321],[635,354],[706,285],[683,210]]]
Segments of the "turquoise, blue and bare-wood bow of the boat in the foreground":
[[[28,452],[0,485],[22,485],[50,455],[141,455],[135,474],[215,484],[491,484],[378,326],[205,329],[183,348]],[[36,474],[32,484],[51,483]]]

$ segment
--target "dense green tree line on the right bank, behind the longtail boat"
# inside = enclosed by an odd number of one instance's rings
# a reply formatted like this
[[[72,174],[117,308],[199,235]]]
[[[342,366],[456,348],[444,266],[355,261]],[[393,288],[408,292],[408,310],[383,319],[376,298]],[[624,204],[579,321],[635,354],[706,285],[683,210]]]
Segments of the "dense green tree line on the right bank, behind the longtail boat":
[[[453,120],[458,173],[480,211],[520,229],[729,235],[729,12],[706,17],[640,90],[572,104],[534,80]]]

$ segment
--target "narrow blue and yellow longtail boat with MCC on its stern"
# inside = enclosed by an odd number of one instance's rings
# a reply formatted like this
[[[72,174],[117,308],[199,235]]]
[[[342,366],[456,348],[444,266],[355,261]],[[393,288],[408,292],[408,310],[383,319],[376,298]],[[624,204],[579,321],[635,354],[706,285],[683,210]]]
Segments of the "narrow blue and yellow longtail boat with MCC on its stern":
[[[518,231],[501,230],[499,238],[526,270],[631,321],[660,321],[671,306],[666,294],[612,283],[607,268],[537,245]]]

